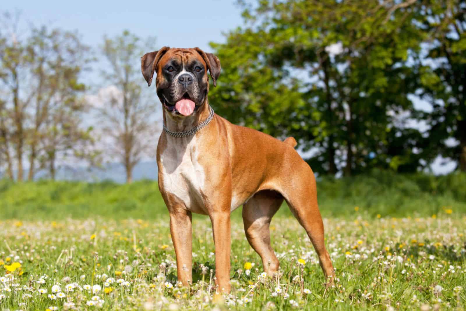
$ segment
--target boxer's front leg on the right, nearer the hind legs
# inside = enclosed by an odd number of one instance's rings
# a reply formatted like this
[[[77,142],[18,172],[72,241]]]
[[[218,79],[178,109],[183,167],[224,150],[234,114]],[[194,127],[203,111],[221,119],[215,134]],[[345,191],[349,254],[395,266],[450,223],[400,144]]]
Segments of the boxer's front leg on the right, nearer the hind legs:
[[[219,293],[229,293],[230,287],[230,210],[215,211],[210,215],[215,244],[215,284]]]

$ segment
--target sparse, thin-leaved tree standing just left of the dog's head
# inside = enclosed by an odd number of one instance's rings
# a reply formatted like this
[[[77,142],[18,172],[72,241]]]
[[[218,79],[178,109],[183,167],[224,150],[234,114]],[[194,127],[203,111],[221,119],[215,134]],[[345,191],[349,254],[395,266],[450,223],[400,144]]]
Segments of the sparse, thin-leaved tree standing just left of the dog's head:
[[[104,38],[102,53],[108,66],[103,72],[107,87],[116,87],[108,98],[103,98],[103,108],[99,109],[103,121],[104,142],[108,155],[117,158],[126,170],[126,182],[132,180],[134,166],[144,156],[155,153],[156,111],[155,95],[144,95],[138,61],[147,49],[153,49],[154,39],[149,39],[147,47],[141,39],[123,31],[115,38]]]

